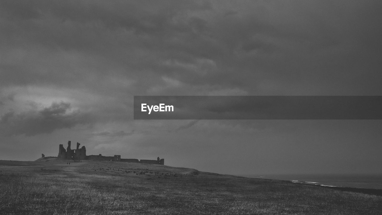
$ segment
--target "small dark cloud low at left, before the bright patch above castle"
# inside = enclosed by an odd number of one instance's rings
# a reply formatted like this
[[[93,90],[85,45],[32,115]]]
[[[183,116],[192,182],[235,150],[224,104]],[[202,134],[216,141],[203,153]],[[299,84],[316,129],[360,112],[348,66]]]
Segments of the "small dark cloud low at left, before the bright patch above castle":
[[[71,128],[77,124],[91,124],[93,119],[89,114],[80,111],[70,112],[69,103],[52,103],[50,107],[40,111],[15,113],[8,111],[1,116],[0,127],[2,135],[33,136],[50,134],[57,129]]]

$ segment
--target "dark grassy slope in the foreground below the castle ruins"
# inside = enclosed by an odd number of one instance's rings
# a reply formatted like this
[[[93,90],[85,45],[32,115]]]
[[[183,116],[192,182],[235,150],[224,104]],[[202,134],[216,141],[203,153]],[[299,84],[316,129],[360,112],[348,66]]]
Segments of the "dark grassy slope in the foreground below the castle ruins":
[[[195,169],[0,161],[0,214],[382,214],[382,196]]]

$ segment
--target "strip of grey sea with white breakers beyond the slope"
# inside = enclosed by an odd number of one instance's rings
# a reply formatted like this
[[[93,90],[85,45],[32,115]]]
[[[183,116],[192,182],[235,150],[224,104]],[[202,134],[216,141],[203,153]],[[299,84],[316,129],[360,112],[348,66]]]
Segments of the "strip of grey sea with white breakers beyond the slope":
[[[287,180],[317,186],[382,189],[382,174],[247,174],[241,176]]]

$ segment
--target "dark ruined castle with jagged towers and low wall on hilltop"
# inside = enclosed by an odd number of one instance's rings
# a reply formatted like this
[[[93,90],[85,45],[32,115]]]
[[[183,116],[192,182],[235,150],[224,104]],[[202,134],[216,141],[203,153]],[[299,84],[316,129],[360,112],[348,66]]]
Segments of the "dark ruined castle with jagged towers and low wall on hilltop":
[[[59,160],[72,159],[72,160],[105,160],[105,161],[121,161],[121,162],[135,162],[135,163],[151,163],[151,164],[160,164],[164,165],[165,160],[159,157],[157,160],[138,160],[138,159],[127,159],[121,158],[121,155],[114,156],[102,156],[99,155],[86,155],[85,146],[79,148],[79,143],[77,143],[76,149],[71,149],[71,141],[68,141],[68,147],[63,147],[63,144],[60,144],[58,147],[58,156]]]

